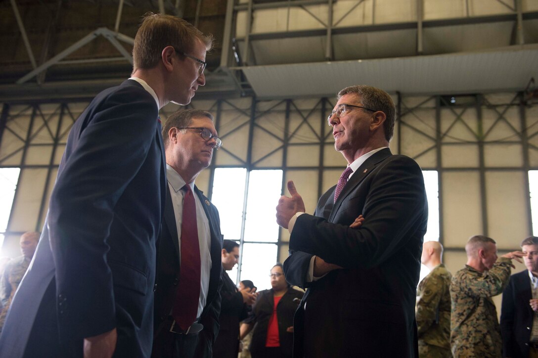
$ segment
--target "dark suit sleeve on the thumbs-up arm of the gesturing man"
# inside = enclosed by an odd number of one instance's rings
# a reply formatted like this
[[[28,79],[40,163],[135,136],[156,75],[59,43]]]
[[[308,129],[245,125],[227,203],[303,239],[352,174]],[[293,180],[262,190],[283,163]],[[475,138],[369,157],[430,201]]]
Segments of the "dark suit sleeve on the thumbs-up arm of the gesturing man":
[[[425,217],[426,194],[421,169],[414,160],[394,156],[385,162],[370,174],[374,177],[364,203],[362,227],[349,227],[357,216],[355,201],[364,200],[351,194],[338,209],[338,215],[349,211],[350,222],[332,223],[303,214],[295,222],[289,248],[345,269],[372,268],[397,254]]]

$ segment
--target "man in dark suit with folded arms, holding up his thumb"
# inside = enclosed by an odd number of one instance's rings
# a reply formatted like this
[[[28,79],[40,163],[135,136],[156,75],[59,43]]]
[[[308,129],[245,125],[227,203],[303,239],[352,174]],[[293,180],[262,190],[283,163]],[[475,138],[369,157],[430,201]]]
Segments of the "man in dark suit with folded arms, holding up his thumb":
[[[277,222],[291,232],[286,279],[308,287],[295,314],[294,356],[415,357],[428,219],[421,169],[387,148],[395,108],[383,90],[344,88],[328,120],[348,169],[314,215],[292,181],[291,198],[277,206]],[[350,228],[360,214],[362,226]]]

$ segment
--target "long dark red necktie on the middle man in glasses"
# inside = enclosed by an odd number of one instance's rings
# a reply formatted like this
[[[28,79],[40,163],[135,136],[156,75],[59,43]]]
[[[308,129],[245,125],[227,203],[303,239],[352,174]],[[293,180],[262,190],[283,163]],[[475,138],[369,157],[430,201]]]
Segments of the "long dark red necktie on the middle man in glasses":
[[[193,191],[187,184],[181,188],[183,217],[181,220],[181,259],[179,284],[175,294],[172,317],[183,331],[196,320],[200,301],[200,243],[196,224],[196,204]]]

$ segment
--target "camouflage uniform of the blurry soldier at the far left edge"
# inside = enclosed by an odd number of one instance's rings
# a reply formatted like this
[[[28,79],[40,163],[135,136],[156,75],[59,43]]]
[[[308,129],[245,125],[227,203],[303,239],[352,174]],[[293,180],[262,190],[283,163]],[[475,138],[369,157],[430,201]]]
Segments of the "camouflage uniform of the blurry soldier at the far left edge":
[[[2,278],[0,278],[0,300],[4,306],[2,313],[0,313],[0,332],[2,332],[2,327],[4,327],[5,316],[8,314],[8,308],[11,305],[13,294],[17,291],[17,287],[29,265],[30,259],[24,256],[13,258],[5,265]]]

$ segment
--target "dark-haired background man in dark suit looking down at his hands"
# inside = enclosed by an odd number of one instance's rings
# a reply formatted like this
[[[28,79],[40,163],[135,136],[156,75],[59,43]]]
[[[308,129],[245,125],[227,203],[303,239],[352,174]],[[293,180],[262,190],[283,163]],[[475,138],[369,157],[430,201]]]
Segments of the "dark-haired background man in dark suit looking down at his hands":
[[[256,302],[254,289],[237,290],[226,271],[233,269],[239,260],[239,244],[224,240],[222,244],[222,290],[221,325],[217,340],[213,345],[213,355],[218,358],[237,358],[239,354],[239,322],[244,320]],[[251,293],[252,292],[252,293]]]

